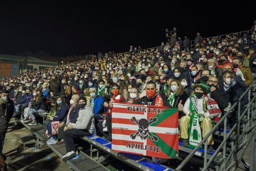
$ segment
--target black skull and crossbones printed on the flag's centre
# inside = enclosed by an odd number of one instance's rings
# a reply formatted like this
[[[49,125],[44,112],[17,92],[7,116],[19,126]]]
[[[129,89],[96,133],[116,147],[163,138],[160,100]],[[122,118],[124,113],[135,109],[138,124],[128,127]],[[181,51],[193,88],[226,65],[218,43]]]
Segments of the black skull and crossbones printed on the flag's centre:
[[[141,139],[146,139],[150,136],[150,138],[153,141],[158,141],[158,137],[154,136],[152,133],[150,133],[149,131],[149,126],[154,123],[157,122],[157,118],[150,118],[149,121],[148,119],[139,119],[139,121],[137,121],[137,119],[133,116],[133,118],[131,118],[131,122],[136,123],[139,126],[139,129],[136,133],[131,134],[130,137],[132,139],[135,139],[137,135],[139,135],[139,137],[141,137]]]

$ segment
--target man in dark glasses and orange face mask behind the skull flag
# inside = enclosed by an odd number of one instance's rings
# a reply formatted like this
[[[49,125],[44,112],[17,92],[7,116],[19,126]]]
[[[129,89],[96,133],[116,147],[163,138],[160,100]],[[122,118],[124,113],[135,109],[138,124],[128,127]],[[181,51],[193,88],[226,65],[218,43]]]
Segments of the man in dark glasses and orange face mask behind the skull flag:
[[[156,83],[152,80],[148,81],[146,84],[146,96],[143,96],[134,103],[152,106],[170,106],[169,102],[158,95],[156,91]]]

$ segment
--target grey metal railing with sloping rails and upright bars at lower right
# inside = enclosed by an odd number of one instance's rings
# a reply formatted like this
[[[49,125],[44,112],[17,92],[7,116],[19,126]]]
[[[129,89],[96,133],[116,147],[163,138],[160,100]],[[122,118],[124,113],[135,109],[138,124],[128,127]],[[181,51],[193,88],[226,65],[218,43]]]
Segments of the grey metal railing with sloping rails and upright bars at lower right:
[[[256,80],[250,85],[249,88],[243,93],[238,101],[232,105],[230,110],[226,112],[213,129],[208,133],[203,140],[196,146],[195,149],[181,162],[176,170],[181,170],[189,160],[195,155],[196,151],[200,149],[200,146],[204,145],[204,151],[207,151],[207,139],[213,134],[220,126],[223,125],[223,141],[220,143],[218,149],[216,149],[214,155],[210,159],[207,158],[207,153],[204,153],[204,165],[202,170],[208,170],[210,165],[214,162],[216,156],[221,155],[219,159],[220,165],[216,166],[215,170],[236,170],[238,165],[242,162],[243,165],[250,169],[250,171],[256,170],[254,167],[254,152],[255,152],[255,134],[256,134],[256,96],[251,96],[251,88],[256,85]],[[243,98],[248,96],[249,103],[247,106],[241,106]],[[238,110],[237,122],[227,133],[227,116],[234,110]],[[231,147],[227,147],[227,141],[231,141]],[[243,154],[247,147],[250,149],[250,164],[247,164],[243,160]]]

